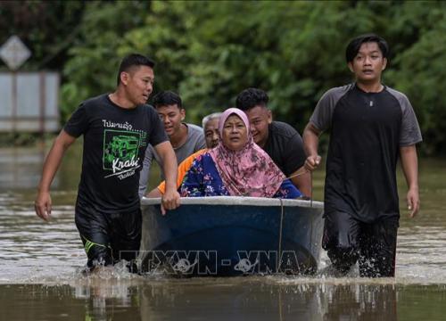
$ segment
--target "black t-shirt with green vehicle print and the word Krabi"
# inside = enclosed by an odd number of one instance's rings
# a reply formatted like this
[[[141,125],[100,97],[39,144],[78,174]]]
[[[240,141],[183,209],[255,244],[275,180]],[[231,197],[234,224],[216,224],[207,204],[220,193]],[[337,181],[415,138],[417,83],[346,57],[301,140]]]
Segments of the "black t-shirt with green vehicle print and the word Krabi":
[[[63,129],[84,136],[78,204],[105,213],[137,210],[145,149],[168,140],[153,107],[124,109],[100,95],[81,103]]]

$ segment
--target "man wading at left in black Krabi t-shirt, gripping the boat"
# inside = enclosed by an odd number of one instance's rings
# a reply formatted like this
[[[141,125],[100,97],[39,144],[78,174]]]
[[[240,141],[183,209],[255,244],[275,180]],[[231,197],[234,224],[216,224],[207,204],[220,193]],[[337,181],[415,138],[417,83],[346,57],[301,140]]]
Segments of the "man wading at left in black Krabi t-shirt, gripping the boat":
[[[145,104],[153,90],[153,66],[140,54],[125,57],[116,91],[81,103],[45,160],[35,209],[37,216],[47,220],[56,170],[70,144],[84,136],[75,221],[88,268],[136,258],[141,240],[139,172],[148,144],[155,146],[166,173],[161,210],[179,205],[175,153],[157,112]]]

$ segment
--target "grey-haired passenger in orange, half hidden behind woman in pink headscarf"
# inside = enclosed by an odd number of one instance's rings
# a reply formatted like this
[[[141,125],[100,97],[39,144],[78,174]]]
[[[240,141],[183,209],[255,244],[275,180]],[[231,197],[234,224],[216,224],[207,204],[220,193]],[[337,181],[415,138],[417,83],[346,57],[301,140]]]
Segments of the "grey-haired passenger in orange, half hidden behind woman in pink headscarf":
[[[178,179],[177,188],[183,182],[187,170],[192,166],[192,162],[198,155],[207,152],[208,149],[214,148],[219,144],[219,117],[221,112],[214,112],[202,119],[202,128],[204,130],[204,140],[206,141],[206,147],[198,152],[194,152],[192,155],[186,158],[186,160],[181,161],[178,165]],[[150,193],[146,195],[148,198],[161,197],[166,191],[166,182],[162,181],[158,187],[154,188]]]

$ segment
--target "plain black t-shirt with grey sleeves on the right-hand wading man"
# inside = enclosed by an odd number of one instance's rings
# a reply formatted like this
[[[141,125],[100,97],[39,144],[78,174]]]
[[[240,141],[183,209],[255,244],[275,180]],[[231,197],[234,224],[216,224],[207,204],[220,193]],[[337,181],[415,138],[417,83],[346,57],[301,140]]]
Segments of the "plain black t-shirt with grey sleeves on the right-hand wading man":
[[[379,93],[355,84],[335,87],[319,100],[310,122],[320,130],[331,128],[326,214],[343,211],[365,223],[399,217],[400,147],[422,141],[408,98],[388,86]]]

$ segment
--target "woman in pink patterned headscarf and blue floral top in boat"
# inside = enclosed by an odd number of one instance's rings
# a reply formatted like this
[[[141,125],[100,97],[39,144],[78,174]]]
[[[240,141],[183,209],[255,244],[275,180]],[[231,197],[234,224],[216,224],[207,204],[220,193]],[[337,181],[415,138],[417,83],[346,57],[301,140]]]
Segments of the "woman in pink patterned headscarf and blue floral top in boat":
[[[254,143],[244,111],[224,111],[219,135],[219,145],[198,156],[187,171],[180,186],[181,196],[301,196],[267,152]]]

